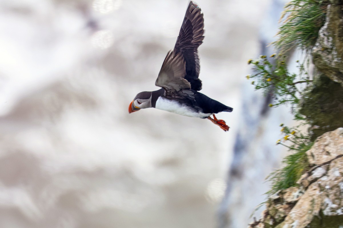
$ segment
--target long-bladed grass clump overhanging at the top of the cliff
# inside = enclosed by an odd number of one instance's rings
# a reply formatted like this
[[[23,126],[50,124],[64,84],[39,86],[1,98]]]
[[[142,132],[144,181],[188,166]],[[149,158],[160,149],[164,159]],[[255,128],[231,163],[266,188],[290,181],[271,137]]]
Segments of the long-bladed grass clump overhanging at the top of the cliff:
[[[273,44],[281,54],[294,47],[309,52],[324,25],[328,0],[293,0],[285,5],[278,39]]]

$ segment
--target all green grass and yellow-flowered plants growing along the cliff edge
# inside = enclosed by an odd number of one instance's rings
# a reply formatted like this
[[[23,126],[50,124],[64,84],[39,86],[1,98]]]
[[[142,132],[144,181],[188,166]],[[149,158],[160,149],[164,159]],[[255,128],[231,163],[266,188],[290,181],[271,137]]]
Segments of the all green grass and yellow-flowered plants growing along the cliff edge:
[[[319,29],[324,25],[328,4],[328,0],[293,0],[287,3],[280,19],[282,25],[277,33],[278,39],[272,43],[279,53],[248,61],[253,65],[253,73],[247,78],[252,80],[255,89],[262,89],[264,94],[273,94],[274,102],[269,104],[270,107],[290,105],[294,120],[299,123],[295,128],[282,125],[284,137],[276,144],[286,146],[291,154],[283,159],[281,169],[268,176],[272,185],[268,195],[296,186],[299,177],[309,169],[306,151],[313,145],[313,138],[299,130],[301,125],[309,124],[299,110],[300,99],[313,81],[309,79],[303,64],[298,65],[298,73],[289,72],[284,54],[296,47],[310,54]]]

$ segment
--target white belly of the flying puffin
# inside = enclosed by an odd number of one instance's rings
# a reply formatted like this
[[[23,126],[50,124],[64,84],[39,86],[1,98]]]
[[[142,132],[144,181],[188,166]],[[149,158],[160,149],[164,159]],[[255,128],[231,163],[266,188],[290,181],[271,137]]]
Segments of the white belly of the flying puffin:
[[[213,113],[194,112],[194,110],[187,106],[180,105],[175,100],[168,100],[163,97],[158,97],[155,108],[189,117],[205,118],[213,115]]]

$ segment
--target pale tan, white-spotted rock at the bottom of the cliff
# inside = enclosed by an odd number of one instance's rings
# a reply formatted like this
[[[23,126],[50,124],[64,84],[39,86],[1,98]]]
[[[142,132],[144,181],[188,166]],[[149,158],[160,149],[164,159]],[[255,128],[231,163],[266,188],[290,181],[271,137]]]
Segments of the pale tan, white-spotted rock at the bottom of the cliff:
[[[249,228],[342,227],[343,128],[318,137],[306,154],[312,168],[297,187],[269,197],[262,218]]]

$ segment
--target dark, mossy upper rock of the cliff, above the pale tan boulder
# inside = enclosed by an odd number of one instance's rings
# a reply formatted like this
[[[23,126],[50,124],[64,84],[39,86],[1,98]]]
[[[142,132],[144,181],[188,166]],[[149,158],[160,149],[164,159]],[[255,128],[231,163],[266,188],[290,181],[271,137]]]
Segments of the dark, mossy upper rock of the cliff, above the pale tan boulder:
[[[320,73],[303,96],[300,112],[310,120],[312,139],[343,126],[343,1],[330,0],[312,59]]]

